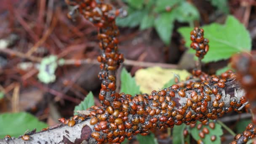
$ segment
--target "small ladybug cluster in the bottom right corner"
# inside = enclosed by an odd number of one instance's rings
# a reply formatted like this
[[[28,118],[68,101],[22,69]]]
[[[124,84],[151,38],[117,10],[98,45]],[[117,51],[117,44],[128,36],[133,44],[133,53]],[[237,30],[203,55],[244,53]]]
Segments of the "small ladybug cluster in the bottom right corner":
[[[245,144],[249,139],[253,139],[255,134],[256,134],[256,126],[253,125],[252,123],[249,123],[245,131],[243,131],[243,133],[238,133],[235,136],[235,140],[232,141],[230,144]]]

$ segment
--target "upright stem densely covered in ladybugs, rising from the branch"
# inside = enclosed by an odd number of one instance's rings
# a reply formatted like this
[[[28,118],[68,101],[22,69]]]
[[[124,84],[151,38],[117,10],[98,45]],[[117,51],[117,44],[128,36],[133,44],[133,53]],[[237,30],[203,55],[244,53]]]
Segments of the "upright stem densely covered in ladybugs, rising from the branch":
[[[67,0],[66,0],[67,1]],[[118,53],[119,30],[115,25],[115,17],[121,10],[115,10],[112,5],[103,3],[104,0],[75,0],[67,1],[68,4],[79,6],[78,11],[98,27],[99,46],[101,56],[98,61],[101,63],[99,79],[102,80],[99,100],[102,106],[107,106],[113,102],[116,94],[115,71],[124,61],[123,54]]]

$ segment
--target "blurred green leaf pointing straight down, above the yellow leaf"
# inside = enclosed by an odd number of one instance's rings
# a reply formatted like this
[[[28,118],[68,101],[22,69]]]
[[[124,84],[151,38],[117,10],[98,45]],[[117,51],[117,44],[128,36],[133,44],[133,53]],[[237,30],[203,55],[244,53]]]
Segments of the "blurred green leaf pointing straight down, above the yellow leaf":
[[[162,13],[157,17],[157,19],[155,19],[155,29],[166,45],[169,45],[171,41],[174,18],[175,14],[171,11],[168,13]]]

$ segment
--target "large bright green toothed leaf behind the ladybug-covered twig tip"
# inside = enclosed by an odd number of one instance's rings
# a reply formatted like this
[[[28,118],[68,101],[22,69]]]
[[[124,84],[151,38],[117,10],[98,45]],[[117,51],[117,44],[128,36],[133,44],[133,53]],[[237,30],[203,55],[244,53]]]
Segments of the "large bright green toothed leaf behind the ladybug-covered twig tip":
[[[213,23],[202,27],[205,38],[209,39],[210,49],[203,59],[204,62],[229,59],[233,54],[251,51],[251,37],[246,28],[234,16],[228,16],[224,25]],[[178,31],[190,47],[191,27],[181,27]],[[195,51],[190,48],[190,53]]]

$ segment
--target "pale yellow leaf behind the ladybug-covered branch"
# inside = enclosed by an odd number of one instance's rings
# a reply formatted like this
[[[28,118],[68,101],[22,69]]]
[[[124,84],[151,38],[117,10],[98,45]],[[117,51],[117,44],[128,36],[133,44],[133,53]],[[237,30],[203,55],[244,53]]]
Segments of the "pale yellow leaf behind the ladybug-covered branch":
[[[149,67],[146,69],[139,69],[135,73],[136,83],[140,86],[141,93],[151,93],[153,90],[160,90],[175,75],[179,74],[179,79],[186,80],[190,75],[186,70],[178,69],[163,69],[161,67]],[[171,85],[168,85],[169,87]]]

